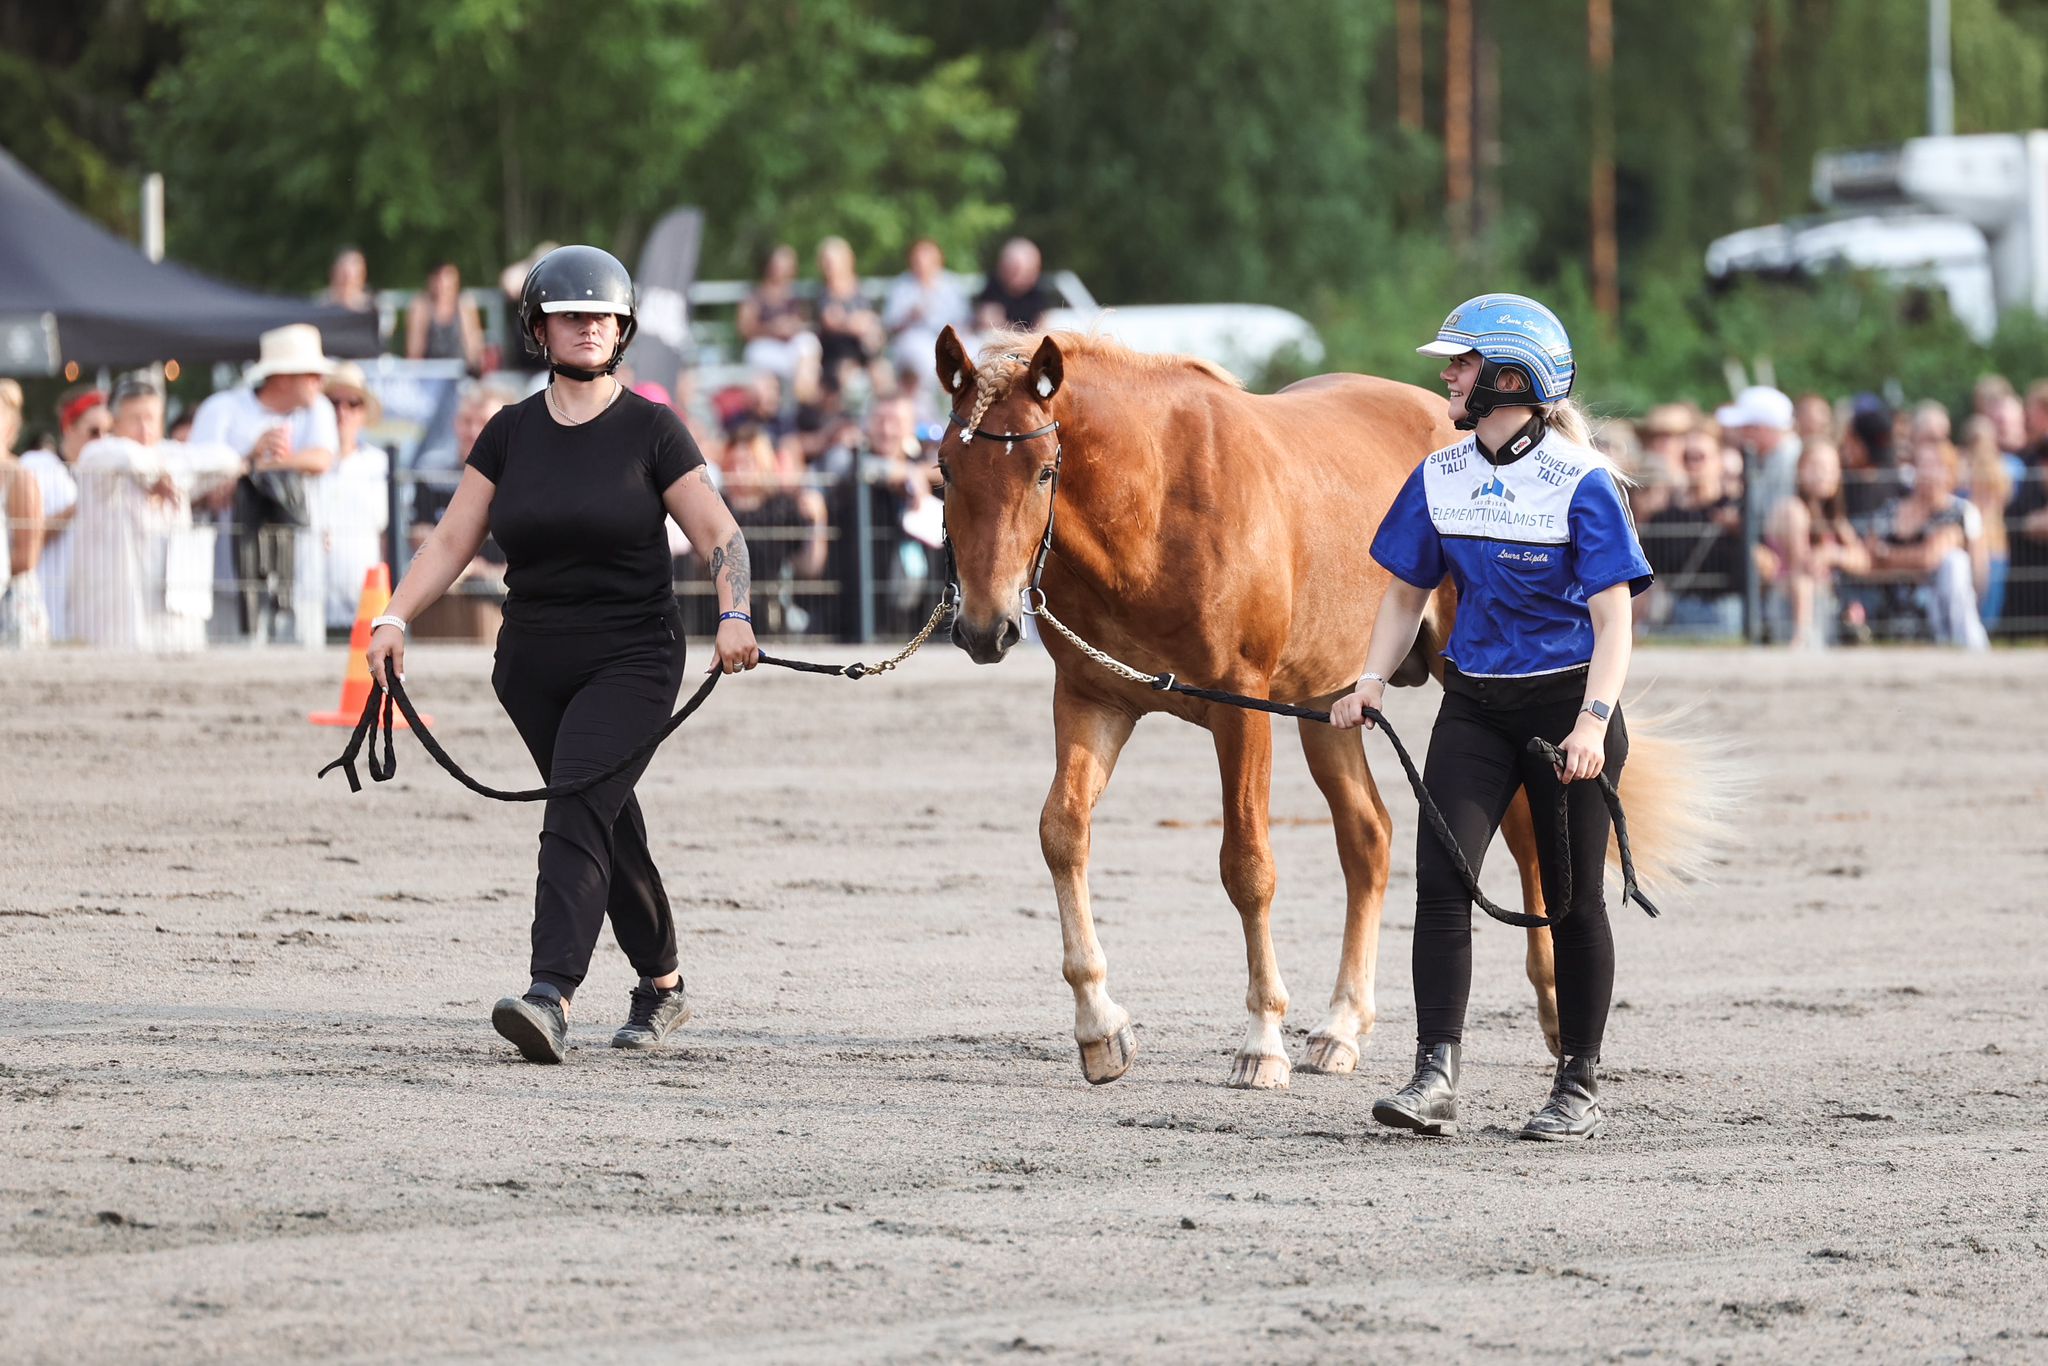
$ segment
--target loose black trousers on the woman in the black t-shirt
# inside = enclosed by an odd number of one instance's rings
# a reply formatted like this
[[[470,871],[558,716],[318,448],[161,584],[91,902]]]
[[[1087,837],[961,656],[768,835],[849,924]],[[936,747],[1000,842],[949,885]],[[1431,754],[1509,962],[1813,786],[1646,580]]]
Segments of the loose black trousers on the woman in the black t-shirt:
[[[682,688],[682,610],[618,631],[498,631],[492,686],[547,782],[616,764],[655,733]],[[645,762],[547,803],[532,899],[532,979],[575,993],[606,915],[641,977],[676,971],[676,917],[647,852],[633,784]]]

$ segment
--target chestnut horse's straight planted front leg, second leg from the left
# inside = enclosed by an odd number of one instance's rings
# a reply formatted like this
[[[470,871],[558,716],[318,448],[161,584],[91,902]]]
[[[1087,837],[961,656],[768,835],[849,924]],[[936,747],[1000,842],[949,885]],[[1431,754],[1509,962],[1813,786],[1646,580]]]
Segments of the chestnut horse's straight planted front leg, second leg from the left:
[[[1286,985],[1274,961],[1274,850],[1268,840],[1268,801],[1274,778],[1274,731],[1264,713],[1214,709],[1210,733],[1223,770],[1223,889],[1245,928],[1245,967],[1251,983],[1245,1010],[1251,1014],[1245,1042],[1231,1061],[1231,1085],[1280,1087],[1290,1063],[1280,1022],[1286,1018]]]

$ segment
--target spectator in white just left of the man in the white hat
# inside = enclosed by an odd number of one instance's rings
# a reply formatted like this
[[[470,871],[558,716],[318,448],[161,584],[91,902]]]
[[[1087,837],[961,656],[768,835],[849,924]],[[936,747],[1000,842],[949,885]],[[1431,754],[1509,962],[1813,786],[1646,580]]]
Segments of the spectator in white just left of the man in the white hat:
[[[213,528],[193,526],[193,494],[231,483],[223,444],[164,440],[164,395],[115,389],[113,434],[78,455],[70,623],[100,649],[188,651],[213,612]]]

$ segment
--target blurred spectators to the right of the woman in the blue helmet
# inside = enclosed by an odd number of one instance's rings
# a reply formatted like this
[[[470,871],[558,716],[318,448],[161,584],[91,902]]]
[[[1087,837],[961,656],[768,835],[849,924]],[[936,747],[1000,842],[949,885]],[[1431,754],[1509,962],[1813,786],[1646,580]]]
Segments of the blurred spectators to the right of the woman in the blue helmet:
[[[1610,420],[1595,442],[1634,481],[1653,631],[1798,649],[2048,633],[2048,379],[1982,377],[1960,422],[1937,401],[1757,385],[1714,412]]]

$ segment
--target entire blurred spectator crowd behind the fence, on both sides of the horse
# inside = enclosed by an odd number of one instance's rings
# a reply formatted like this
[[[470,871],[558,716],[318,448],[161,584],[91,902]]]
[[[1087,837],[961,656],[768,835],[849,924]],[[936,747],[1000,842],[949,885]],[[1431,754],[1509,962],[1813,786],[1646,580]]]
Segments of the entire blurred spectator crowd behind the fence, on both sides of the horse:
[[[508,317],[551,246],[500,274]],[[453,420],[403,453],[375,440],[373,377],[326,356],[309,326],[264,334],[242,383],[190,412],[166,412],[154,375],[80,385],[20,455],[23,391],[0,381],[0,645],[186,651],[346,633],[365,571],[424,541],[483,424],[543,381],[516,324],[487,328],[475,297],[436,264],[391,328],[403,356],[467,375]],[[336,254],[319,299],[377,307],[360,250]],[[862,281],[842,238],[817,246],[811,281],[778,244],[739,301],[735,362],[621,379],[702,446],[754,545],[764,631],[844,627],[850,592],[895,631],[938,592],[938,334],[1034,328],[1055,305],[1024,238],[973,297],[932,240],[887,285]],[[2048,633],[2048,379],[2019,391],[1987,377],[1968,414],[1759,385],[1714,410],[1610,418],[1595,442],[1632,481],[1659,575],[1638,602],[1649,633],[1800,649]],[[670,539],[688,578],[690,547],[674,526]],[[489,596],[500,575],[487,543],[469,588]]]

